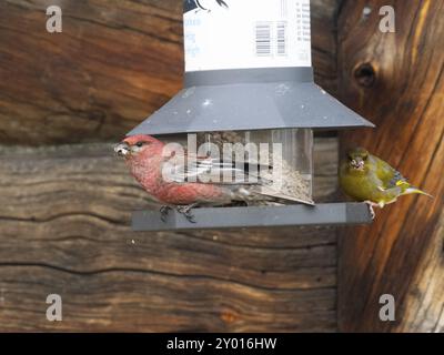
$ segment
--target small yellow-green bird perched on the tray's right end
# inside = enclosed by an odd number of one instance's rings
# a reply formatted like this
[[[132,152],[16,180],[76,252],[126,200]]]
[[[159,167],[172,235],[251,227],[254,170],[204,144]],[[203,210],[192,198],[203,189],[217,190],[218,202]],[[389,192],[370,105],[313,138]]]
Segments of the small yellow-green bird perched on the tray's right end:
[[[349,196],[369,204],[372,219],[374,206],[382,209],[398,196],[417,193],[432,197],[412,186],[398,171],[363,148],[349,151],[341,163],[340,185]]]

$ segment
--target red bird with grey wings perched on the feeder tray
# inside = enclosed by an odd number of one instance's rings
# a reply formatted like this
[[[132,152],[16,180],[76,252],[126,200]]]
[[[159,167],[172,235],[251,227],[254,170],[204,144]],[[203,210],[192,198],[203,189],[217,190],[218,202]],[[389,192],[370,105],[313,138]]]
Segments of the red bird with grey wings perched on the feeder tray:
[[[125,159],[135,180],[154,201],[163,205],[162,220],[172,206],[194,223],[190,213],[194,206],[276,200],[301,202],[274,193],[270,187],[263,186],[264,181],[261,179],[255,183],[245,181],[248,174],[244,171],[242,179],[235,182],[224,182],[222,179],[220,182],[203,182],[204,175],[221,176],[226,171],[231,174],[239,173],[240,170],[232,162],[224,163],[210,156],[191,156],[186,152],[181,154],[165,148],[167,144],[162,141],[143,134],[129,136],[114,148]]]

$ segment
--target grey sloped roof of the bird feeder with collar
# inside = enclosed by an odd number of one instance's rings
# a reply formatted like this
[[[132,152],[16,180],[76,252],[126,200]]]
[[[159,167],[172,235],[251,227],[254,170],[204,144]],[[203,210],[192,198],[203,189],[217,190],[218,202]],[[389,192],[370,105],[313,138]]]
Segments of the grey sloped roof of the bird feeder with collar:
[[[317,87],[312,68],[186,72],[184,87],[128,135],[374,126]]]

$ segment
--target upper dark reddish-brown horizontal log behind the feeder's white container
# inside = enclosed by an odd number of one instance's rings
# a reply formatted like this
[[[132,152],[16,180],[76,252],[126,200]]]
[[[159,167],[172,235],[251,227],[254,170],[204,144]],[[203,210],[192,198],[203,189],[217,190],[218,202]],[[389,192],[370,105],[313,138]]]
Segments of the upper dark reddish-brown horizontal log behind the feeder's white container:
[[[117,140],[182,85],[182,1],[0,2],[2,144]],[[335,92],[336,0],[312,1],[316,81]]]

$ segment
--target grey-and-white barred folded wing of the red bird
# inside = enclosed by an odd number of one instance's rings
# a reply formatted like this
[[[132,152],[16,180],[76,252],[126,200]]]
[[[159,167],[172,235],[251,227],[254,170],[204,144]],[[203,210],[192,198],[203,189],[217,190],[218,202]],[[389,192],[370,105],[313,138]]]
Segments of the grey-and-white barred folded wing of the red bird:
[[[222,161],[211,156],[175,155],[163,163],[165,180],[176,183],[200,182],[212,184],[266,184],[259,172],[269,166],[236,164],[232,161]]]

